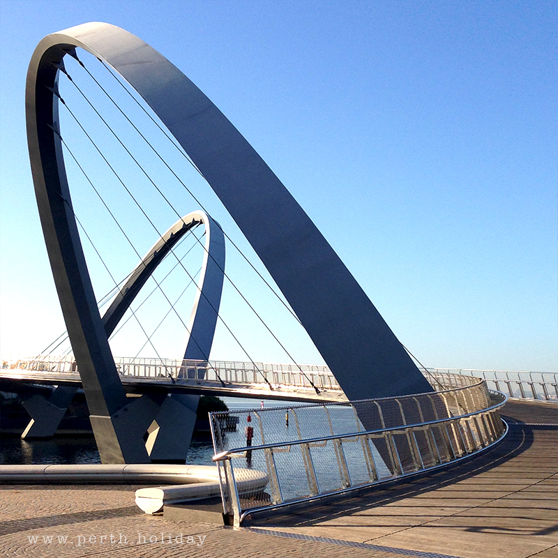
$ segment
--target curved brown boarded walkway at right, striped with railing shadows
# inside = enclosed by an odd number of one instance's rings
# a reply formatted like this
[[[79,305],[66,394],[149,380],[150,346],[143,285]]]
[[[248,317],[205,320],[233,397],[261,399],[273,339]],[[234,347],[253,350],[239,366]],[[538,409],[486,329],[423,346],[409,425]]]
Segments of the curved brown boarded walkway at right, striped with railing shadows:
[[[255,533],[418,557],[556,558],[558,405],[512,400],[502,415],[510,426],[506,439],[472,461],[244,525]]]

